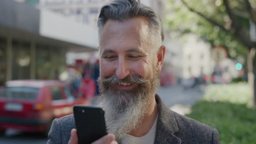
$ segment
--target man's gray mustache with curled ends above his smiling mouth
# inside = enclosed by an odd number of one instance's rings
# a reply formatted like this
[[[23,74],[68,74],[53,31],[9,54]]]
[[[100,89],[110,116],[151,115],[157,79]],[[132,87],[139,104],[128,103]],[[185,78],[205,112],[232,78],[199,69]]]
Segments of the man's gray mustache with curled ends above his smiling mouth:
[[[122,83],[122,82],[131,83],[131,84],[134,84],[134,83],[141,84],[141,83],[147,82],[149,80],[143,79],[139,75],[128,75],[124,79],[118,79],[118,77],[116,75],[112,75],[107,78],[102,78],[101,81],[103,83],[112,83],[112,84],[113,83]]]

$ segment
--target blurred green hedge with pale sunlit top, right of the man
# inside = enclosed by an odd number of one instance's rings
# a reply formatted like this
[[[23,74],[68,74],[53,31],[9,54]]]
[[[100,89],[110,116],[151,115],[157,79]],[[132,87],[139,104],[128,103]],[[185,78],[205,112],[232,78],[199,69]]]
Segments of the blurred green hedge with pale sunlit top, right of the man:
[[[256,143],[256,110],[248,108],[248,85],[213,85],[187,115],[219,131],[221,143]]]

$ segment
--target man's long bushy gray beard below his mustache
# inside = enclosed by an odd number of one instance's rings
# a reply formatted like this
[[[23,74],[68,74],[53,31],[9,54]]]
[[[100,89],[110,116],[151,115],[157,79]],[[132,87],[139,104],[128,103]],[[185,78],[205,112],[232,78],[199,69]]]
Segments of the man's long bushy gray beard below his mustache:
[[[132,91],[121,91],[109,87],[98,79],[101,96],[97,99],[96,105],[105,109],[105,119],[108,133],[115,135],[115,140],[121,141],[125,134],[138,128],[143,117],[147,113],[150,100],[154,98],[159,87],[158,76],[152,80],[145,80],[139,83]]]

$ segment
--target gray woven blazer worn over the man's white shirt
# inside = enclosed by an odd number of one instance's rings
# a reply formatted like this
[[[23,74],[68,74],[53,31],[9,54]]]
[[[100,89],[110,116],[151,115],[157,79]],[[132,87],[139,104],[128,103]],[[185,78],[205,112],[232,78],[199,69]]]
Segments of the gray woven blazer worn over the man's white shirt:
[[[155,99],[159,106],[159,114],[154,143],[220,143],[218,130],[171,111],[157,94]],[[68,143],[73,128],[73,115],[54,119],[47,143]]]

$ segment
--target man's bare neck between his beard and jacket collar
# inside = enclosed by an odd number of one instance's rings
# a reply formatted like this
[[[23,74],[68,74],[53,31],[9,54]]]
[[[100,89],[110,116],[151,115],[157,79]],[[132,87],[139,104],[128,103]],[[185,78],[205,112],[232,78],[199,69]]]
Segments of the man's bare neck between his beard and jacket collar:
[[[154,95],[150,101],[147,112],[143,117],[141,124],[138,126],[137,129],[131,131],[129,135],[132,135],[135,137],[141,137],[146,135],[148,131],[152,128],[157,116],[158,116],[158,105],[156,104],[155,95]]]

